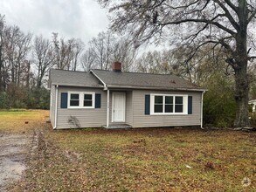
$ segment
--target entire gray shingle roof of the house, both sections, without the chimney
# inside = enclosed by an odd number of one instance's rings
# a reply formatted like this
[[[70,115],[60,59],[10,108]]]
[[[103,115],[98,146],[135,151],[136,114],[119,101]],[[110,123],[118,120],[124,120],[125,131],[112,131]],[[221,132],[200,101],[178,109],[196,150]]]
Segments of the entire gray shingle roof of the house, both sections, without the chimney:
[[[100,79],[96,78],[93,73]],[[190,83],[175,75],[149,74],[139,72],[112,72],[91,70],[91,72],[73,72],[59,69],[50,70],[49,83],[59,86],[138,88],[162,90],[194,90],[204,91],[203,88]]]

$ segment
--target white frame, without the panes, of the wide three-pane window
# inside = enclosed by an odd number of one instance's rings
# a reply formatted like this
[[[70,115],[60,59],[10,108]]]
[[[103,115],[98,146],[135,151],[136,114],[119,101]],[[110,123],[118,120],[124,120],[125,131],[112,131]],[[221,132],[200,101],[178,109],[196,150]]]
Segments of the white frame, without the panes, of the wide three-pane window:
[[[155,96],[163,96],[163,113],[155,113]],[[173,97],[173,112],[165,113],[165,97]],[[183,97],[183,113],[175,112],[175,97]],[[150,115],[179,115],[179,114],[188,114],[188,95],[186,94],[159,94],[151,93],[150,94]]]

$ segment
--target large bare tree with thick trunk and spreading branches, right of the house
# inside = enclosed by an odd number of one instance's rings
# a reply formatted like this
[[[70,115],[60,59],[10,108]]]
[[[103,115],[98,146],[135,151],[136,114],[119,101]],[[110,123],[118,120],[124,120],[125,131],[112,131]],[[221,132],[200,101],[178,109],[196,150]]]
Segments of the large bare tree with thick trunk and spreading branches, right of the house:
[[[255,0],[99,1],[110,8],[112,29],[128,31],[138,45],[169,38],[171,43],[196,46],[189,58],[204,45],[224,47],[229,52],[226,62],[235,72],[234,126],[249,126],[247,65],[256,57],[249,55],[255,48],[248,34],[256,20]]]

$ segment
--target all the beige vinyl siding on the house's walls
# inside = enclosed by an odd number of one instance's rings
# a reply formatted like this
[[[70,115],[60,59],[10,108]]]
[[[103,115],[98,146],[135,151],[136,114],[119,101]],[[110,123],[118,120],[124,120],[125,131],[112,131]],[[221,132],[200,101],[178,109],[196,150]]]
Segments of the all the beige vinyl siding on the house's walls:
[[[101,94],[100,108],[60,108],[61,93],[68,92],[93,92]],[[125,123],[132,127],[177,127],[177,126],[199,126],[201,122],[201,97],[200,92],[168,92],[154,90],[111,90],[109,97],[109,125],[119,124],[112,122],[112,93],[126,93],[126,115]],[[55,87],[51,88],[52,107],[51,122],[54,125],[54,102]],[[183,94],[193,97],[192,114],[163,114],[145,115],[146,94]],[[76,117],[80,127],[101,127],[107,124],[107,91],[101,88],[79,88],[59,86],[58,92],[58,118],[57,128],[75,127],[68,122],[70,116]],[[121,123],[123,124],[123,123]]]

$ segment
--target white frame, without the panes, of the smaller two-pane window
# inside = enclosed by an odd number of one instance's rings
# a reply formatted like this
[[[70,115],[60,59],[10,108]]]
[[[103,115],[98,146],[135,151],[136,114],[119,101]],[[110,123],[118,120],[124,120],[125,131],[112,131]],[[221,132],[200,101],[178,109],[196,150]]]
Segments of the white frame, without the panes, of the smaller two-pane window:
[[[79,94],[80,105],[70,106],[71,94]],[[84,106],[84,94],[92,94],[92,106]],[[95,108],[95,93],[94,92],[68,92],[67,108]]]

